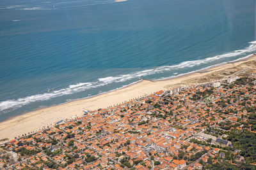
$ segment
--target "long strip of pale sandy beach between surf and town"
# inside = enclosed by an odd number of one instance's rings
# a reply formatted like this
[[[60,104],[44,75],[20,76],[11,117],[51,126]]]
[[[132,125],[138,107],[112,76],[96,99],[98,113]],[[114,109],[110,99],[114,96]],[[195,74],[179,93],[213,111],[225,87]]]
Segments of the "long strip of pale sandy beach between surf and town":
[[[159,81],[141,80],[138,83],[129,85],[99,96],[71,101],[69,103],[42,108],[36,111],[10,118],[0,123],[0,139],[19,138],[22,134],[36,132],[39,129],[51,127],[56,122],[64,119],[83,116],[84,110],[97,110],[108,108],[116,104],[129,101],[134,98],[152,94],[159,90],[169,90],[177,87],[196,85],[214,80],[220,80],[227,76],[234,76],[234,73],[243,76],[244,72],[255,70],[256,55],[237,62],[228,62],[220,66],[209,67],[195,73],[185,74],[176,78]],[[242,71],[241,71],[242,70]]]

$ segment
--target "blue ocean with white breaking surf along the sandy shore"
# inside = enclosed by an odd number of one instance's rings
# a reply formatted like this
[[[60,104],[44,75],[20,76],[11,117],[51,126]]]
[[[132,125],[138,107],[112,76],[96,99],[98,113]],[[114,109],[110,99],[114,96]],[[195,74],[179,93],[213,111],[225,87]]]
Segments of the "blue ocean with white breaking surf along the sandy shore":
[[[254,0],[1,0],[0,122],[255,52]]]

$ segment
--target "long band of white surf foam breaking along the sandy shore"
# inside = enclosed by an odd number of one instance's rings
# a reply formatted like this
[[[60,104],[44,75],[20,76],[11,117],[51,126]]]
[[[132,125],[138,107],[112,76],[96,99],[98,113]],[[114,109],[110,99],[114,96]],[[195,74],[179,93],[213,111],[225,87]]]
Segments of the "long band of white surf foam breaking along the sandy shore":
[[[216,55],[214,57],[209,57],[209,58],[201,59],[201,60],[190,60],[190,61],[186,61],[186,62],[181,62],[180,64],[173,65],[173,66],[161,66],[161,67],[156,67],[155,69],[145,69],[143,71],[137,71],[137,72],[130,73],[130,74],[122,74],[122,75],[118,75],[118,76],[108,76],[105,78],[99,78],[98,81],[95,81],[95,82],[76,83],[74,85],[69,85],[65,89],[60,89],[60,90],[52,89],[52,90],[48,90],[47,92],[45,92],[43,94],[37,94],[34,96],[28,96],[28,97],[23,97],[23,98],[19,98],[19,99],[2,101],[2,102],[0,102],[0,111],[20,108],[26,104],[33,103],[36,101],[46,101],[46,100],[52,99],[54,97],[65,96],[68,94],[74,94],[76,92],[82,92],[84,90],[88,90],[88,89],[92,89],[92,88],[103,87],[104,85],[108,85],[110,83],[124,82],[124,81],[132,80],[135,78],[141,78],[143,76],[148,76],[148,75],[157,74],[157,73],[163,73],[165,71],[175,71],[175,70],[182,69],[185,67],[195,67],[195,66],[200,66],[202,64],[209,64],[216,60],[237,57],[237,55],[245,55],[248,52],[254,52],[254,51],[256,51],[256,41],[250,42],[250,46],[248,46],[247,48],[244,48],[242,50],[236,50],[236,51],[230,52],[230,53],[225,53],[223,55]],[[248,57],[248,56],[246,56],[246,57]],[[246,57],[243,57],[242,59],[245,59]],[[237,59],[237,60],[239,60],[239,59]],[[211,66],[209,66],[209,67],[211,67]],[[195,71],[192,71],[190,73],[193,73],[193,72],[195,72]],[[173,74],[175,76],[178,75],[177,73],[173,73]],[[180,75],[181,74],[179,74],[178,76],[180,76]]]

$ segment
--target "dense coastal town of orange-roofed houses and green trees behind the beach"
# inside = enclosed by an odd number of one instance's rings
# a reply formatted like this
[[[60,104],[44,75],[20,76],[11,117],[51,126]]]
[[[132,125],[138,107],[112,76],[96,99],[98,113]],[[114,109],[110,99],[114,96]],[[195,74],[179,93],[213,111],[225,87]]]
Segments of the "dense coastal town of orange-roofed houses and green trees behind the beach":
[[[0,169],[256,169],[256,73],[161,90],[0,148]]]

